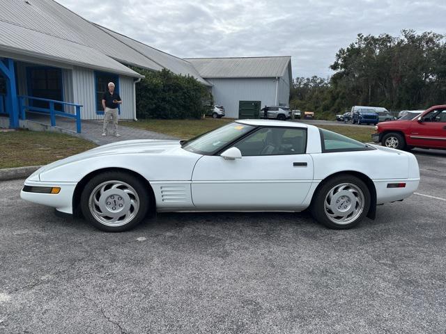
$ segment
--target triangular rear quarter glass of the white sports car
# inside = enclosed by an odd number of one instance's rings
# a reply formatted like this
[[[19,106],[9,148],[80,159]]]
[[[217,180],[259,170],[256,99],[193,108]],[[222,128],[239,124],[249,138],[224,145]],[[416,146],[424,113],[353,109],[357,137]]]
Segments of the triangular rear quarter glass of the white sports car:
[[[375,150],[371,146],[342,136],[336,132],[319,129],[323,153]]]

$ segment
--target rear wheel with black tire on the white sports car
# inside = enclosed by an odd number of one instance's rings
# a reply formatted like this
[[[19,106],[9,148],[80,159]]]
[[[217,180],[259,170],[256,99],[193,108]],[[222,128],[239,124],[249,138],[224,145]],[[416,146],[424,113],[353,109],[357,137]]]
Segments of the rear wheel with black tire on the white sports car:
[[[369,211],[367,185],[353,175],[339,175],[314,194],[310,211],[319,223],[336,230],[353,228]]]

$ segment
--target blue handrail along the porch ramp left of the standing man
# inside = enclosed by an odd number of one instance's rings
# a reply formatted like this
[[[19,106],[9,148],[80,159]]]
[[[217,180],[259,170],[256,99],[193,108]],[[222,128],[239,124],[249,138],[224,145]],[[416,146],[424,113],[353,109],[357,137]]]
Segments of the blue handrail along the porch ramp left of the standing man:
[[[26,104],[25,100],[28,102],[27,104]],[[38,106],[32,106],[29,103],[30,101],[48,102],[49,108],[41,108]],[[74,114],[72,114],[72,113],[64,113],[63,111],[57,111],[56,109],[54,109],[54,104],[60,104],[62,106],[62,108],[63,108],[63,106],[74,106],[76,112]],[[33,97],[33,96],[26,96],[26,95],[19,96],[19,111],[20,111],[20,116],[21,116],[22,120],[26,119],[26,114],[25,114],[26,109],[29,112],[33,112],[33,113],[49,114],[49,119],[51,120],[52,127],[56,126],[56,116],[61,116],[61,117],[66,117],[66,118],[74,118],[76,120],[76,132],[78,134],[81,133],[81,108],[82,108],[81,104],[49,100],[49,99],[43,99],[41,97]]]

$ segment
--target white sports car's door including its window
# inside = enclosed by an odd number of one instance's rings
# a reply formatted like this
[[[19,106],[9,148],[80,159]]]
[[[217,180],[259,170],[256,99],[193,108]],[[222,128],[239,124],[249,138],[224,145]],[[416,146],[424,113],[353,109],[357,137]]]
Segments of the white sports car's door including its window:
[[[263,127],[233,145],[241,159],[203,156],[192,174],[197,209],[300,209],[313,180],[307,130]]]

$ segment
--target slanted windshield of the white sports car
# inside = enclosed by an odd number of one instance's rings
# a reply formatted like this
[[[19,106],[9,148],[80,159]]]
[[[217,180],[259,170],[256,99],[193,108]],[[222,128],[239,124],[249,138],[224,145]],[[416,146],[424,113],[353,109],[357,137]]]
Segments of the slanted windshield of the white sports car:
[[[183,145],[183,148],[194,153],[212,155],[254,128],[252,125],[232,122],[224,125],[224,127],[219,127],[211,132],[192,138]]]

